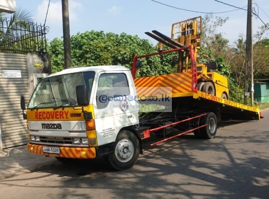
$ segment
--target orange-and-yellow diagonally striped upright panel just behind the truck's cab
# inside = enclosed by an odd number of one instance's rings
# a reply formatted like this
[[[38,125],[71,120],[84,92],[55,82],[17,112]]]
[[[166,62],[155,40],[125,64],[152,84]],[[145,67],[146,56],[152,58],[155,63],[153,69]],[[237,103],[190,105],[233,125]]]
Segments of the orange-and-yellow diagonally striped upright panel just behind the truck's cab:
[[[172,88],[172,94],[188,93],[192,92],[192,72],[136,78],[134,79],[134,84],[138,97],[142,95],[148,96],[150,94],[158,95],[161,94],[160,92],[166,94],[167,91],[161,91],[165,87]]]

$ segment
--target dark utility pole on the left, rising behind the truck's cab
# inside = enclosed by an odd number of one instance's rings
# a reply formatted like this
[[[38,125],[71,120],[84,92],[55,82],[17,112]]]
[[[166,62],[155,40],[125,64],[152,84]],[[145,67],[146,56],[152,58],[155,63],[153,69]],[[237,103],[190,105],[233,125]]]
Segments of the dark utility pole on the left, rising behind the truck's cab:
[[[63,42],[64,42],[64,68],[72,67],[68,0],[62,0],[63,14]]]

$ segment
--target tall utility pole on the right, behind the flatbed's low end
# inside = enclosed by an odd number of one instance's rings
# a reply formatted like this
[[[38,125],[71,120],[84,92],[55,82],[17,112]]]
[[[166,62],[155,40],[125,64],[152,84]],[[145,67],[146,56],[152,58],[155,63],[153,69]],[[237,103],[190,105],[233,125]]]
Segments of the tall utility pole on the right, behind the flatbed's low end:
[[[246,68],[245,68],[245,95],[244,104],[247,104],[248,93],[248,71],[251,69],[251,104],[254,103],[254,77],[253,77],[253,43],[252,43],[252,0],[248,0],[248,17],[247,17],[247,40],[246,40]]]

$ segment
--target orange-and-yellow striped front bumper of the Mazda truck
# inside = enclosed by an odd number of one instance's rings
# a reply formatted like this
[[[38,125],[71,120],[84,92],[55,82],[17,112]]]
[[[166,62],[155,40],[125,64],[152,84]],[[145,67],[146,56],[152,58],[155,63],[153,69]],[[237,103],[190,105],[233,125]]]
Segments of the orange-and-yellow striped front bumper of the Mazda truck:
[[[79,159],[94,159],[96,158],[96,150],[94,147],[79,148],[79,147],[59,147],[60,154],[43,153],[44,145],[27,144],[28,151],[37,155],[62,157],[62,158],[79,158]],[[53,146],[54,147],[54,146]]]

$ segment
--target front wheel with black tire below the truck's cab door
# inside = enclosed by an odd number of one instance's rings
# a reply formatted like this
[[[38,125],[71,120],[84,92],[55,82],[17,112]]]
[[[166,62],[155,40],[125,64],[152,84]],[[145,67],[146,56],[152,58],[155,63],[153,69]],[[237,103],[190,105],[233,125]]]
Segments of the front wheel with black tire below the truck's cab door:
[[[116,170],[129,169],[136,163],[139,150],[139,141],[134,133],[121,131],[115,141],[113,153],[108,156],[109,162]]]

